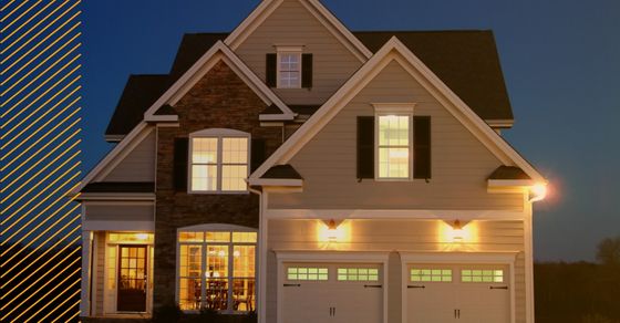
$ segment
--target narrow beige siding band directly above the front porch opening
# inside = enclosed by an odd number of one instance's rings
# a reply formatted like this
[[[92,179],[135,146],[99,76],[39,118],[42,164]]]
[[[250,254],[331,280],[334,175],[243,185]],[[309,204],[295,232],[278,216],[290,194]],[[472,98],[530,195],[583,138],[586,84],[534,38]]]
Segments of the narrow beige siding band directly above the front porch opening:
[[[127,204],[86,204],[86,221],[153,221],[153,202],[142,202],[135,205]]]

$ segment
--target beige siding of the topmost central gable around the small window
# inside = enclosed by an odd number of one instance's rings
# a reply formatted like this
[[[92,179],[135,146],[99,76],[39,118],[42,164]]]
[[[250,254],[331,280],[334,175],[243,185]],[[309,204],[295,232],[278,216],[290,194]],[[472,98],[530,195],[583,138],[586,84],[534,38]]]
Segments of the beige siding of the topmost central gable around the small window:
[[[287,104],[321,104],[360,66],[356,59],[298,0],[285,0],[236,50],[237,55],[265,81],[267,53],[275,45],[303,45],[313,55],[312,88],[275,88]]]

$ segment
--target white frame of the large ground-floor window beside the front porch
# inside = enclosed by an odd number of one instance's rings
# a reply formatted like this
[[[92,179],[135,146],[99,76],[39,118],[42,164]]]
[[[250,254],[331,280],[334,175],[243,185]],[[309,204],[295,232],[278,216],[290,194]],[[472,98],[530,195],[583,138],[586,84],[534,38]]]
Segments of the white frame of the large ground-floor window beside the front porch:
[[[180,242],[179,241],[179,236],[180,232],[205,232],[205,231],[210,231],[210,232],[230,232],[230,241],[229,242]],[[257,233],[257,241],[256,242],[232,242],[232,232],[256,232]],[[204,294],[205,291],[205,281],[206,278],[203,273],[203,270],[206,268],[206,263],[207,263],[207,257],[206,257],[206,249],[207,246],[209,244],[215,244],[215,246],[228,246],[229,247],[229,252],[228,252],[228,304],[227,304],[227,309],[224,311],[219,311],[223,314],[232,314],[232,313],[248,313],[246,311],[235,311],[232,310],[232,302],[230,302],[230,300],[232,300],[232,286],[234,284],[231,283],[235,279],[234,271],[235,271],[235,260],[234,260],[234,246],[255,246],[255,306],[258,305],[258,230],[254,229],[254,228],[248,228],[248,227],[241,227],[241,226],[235,226],[235,225],[223,225],[223,223],[211,223],[211,225],[198,225],[198,226],[192,226],[192,227],[185,227],[185,228],[178,228],[176,230],[176,256],[175,256],[175,270],[176,270],[176,274],[175,274],[175,303],[178,305],[179,304],[179,281],[180,281],[180,268],[179,268],[179,254],[180,254],[180,244],[195,244],[195,246],[202,246],[202,250],[200,250],[200,283],[202,283],[202,294]],[[257,310],[256,308],[254,309],[255,311]],[[184,310],[183,312],[186,313],[198,313],[198,311],[195,310]]]

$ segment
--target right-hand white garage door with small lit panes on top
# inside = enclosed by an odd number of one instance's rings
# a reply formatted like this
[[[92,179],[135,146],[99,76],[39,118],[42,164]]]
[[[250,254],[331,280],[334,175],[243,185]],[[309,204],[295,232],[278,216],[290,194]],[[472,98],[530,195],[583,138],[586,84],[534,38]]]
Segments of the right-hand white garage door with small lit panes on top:
[[[407,323],[508,323],[508,267],[410,264]]]

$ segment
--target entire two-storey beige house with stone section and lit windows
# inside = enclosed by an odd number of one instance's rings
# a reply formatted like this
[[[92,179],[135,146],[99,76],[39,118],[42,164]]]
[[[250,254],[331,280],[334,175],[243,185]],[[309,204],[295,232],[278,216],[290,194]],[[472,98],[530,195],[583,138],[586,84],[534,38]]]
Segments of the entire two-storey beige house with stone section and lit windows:
[[[264,0],[132,75],[84,178],[82,316],[534,322],[533,204],[489,31]]]

